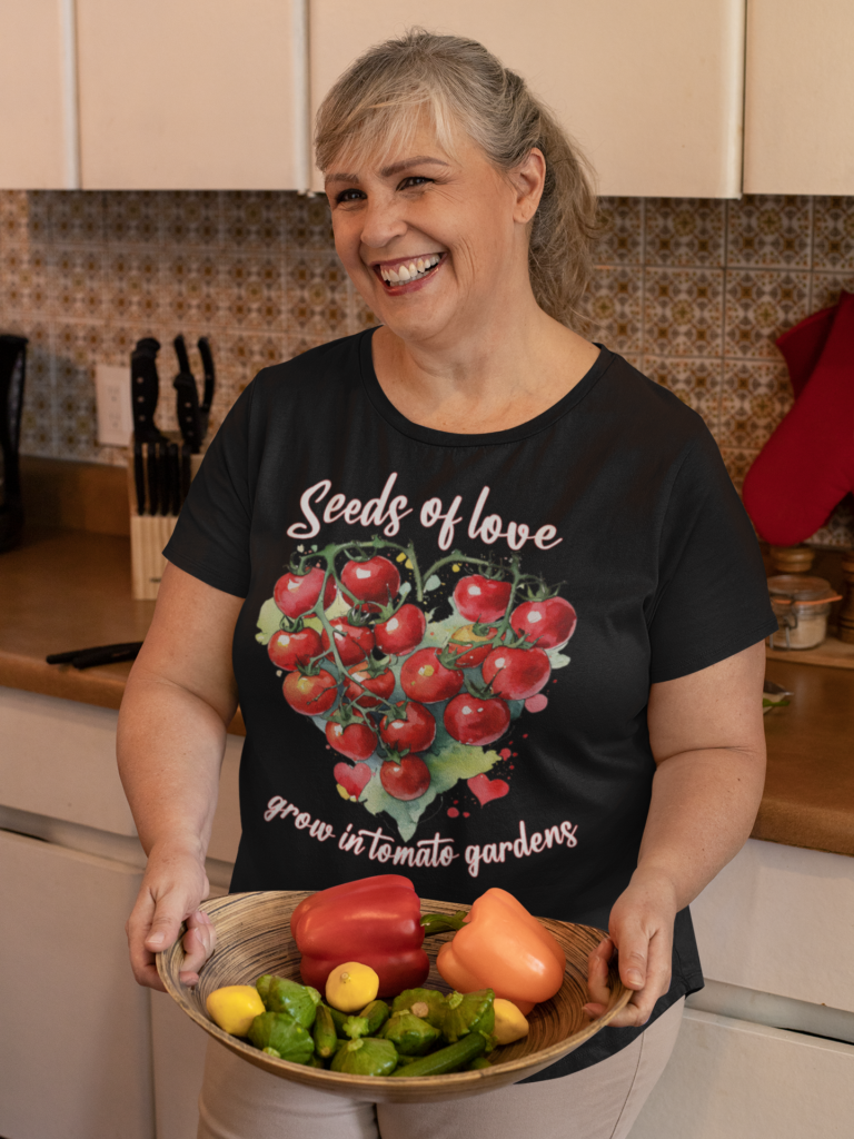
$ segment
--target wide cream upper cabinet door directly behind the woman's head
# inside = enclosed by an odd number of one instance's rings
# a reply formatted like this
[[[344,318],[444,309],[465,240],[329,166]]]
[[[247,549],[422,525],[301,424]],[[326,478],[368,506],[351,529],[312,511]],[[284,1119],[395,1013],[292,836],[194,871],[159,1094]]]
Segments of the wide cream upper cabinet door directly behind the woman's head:
[[[420,25],[481,40],[524,75],[586,150],[601,194],[740,194],[745,0],[310,0],[310,10],[312,113],[361,51]]]

